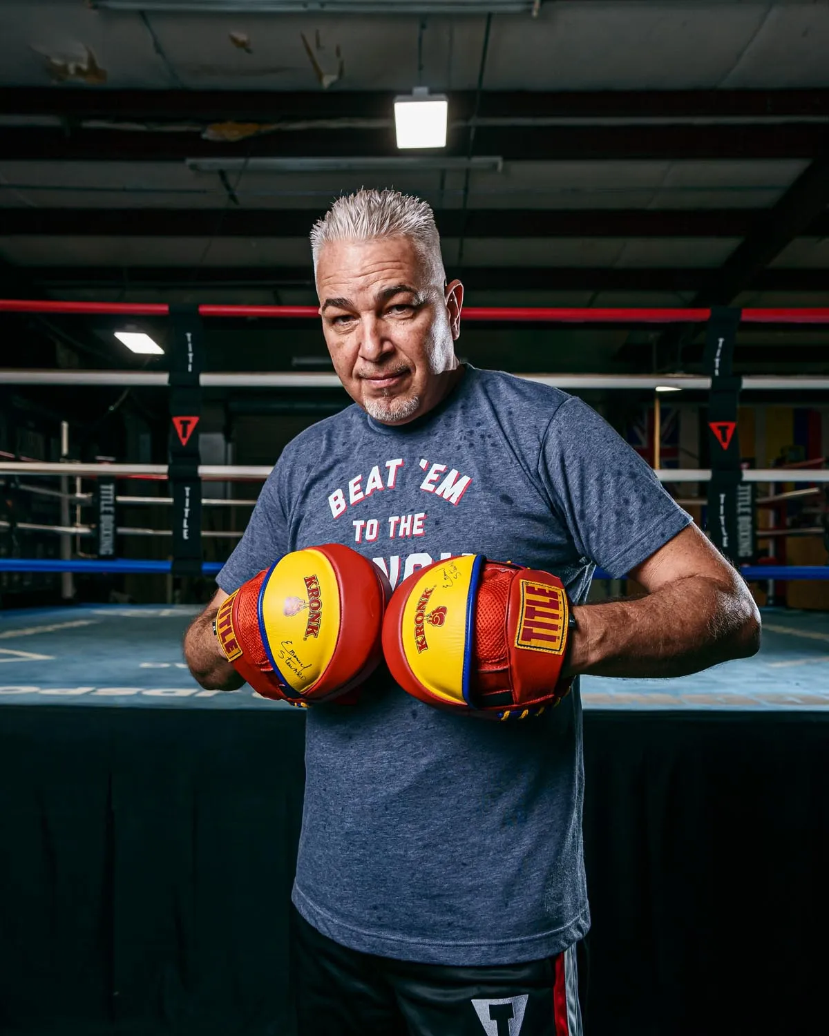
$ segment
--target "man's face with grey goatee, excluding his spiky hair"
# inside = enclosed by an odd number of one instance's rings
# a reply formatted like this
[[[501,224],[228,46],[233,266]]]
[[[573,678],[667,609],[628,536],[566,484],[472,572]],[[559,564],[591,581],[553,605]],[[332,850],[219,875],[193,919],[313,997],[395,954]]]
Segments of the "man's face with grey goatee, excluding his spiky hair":
[[[407,237],[330,241],[316,278],[325,344],[351,399],[387,425],[435,406],[458,366],[460,283],[445,291]]]

